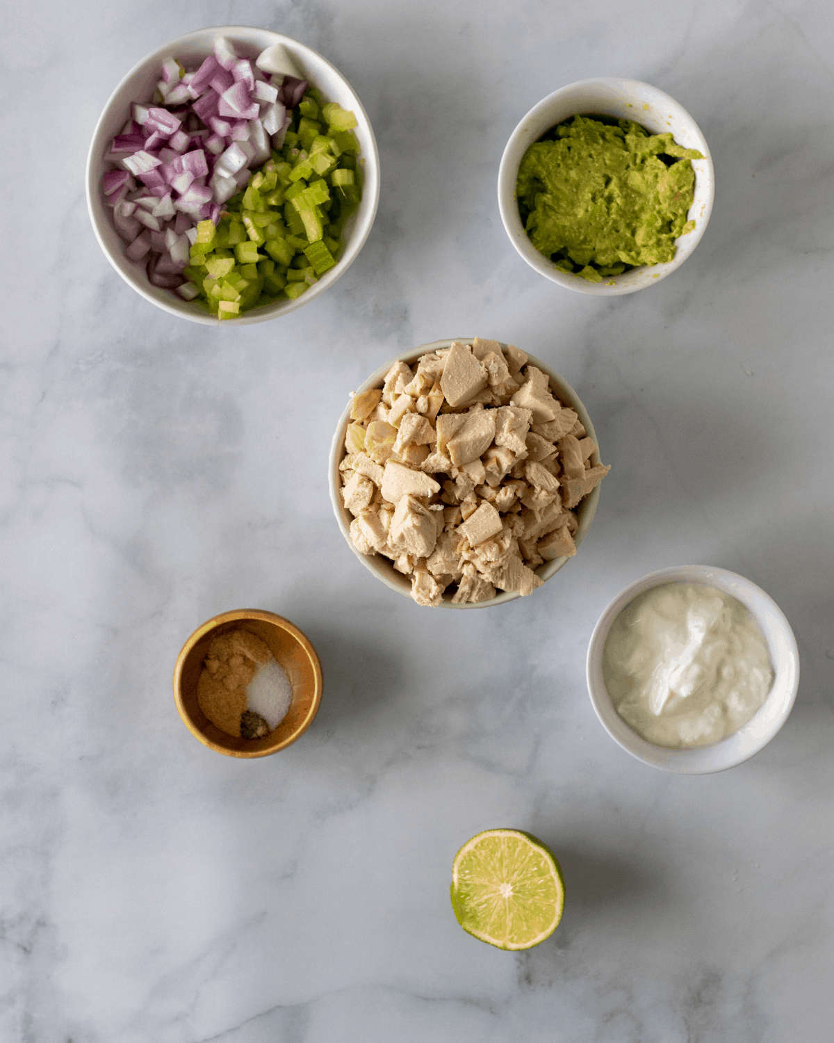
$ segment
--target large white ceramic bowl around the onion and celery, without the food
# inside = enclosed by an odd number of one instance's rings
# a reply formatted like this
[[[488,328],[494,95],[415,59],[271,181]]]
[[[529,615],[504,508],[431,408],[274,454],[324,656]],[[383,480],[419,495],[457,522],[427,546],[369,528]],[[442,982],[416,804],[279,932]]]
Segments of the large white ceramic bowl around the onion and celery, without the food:
[[[113,224],[109,208],[104,203],[101,177],[104,173],[104,155],[109,148],[109,142],[124,126],[132,101],[146,101],[153,94],[156,80],[160,78],[160,67],[166,58],[177,57],[183,64],[199,64],[212,53],[214,43],[220,37],[226,37],[236,46],[242,57],[255,58],[267,47],[273,44],[284,44],[301,73],[317,87],[330,101],[338,101],[342,108],[352,111],[359,126],[355,135],[360,142],[360,160],[363,162],[364,186],[362,201],[357,213],[346,223],[344,229],[344,253],[336,267],[325,272],[305,293],[295,300],[275,301],[262,305],[244,312],[239,318],[228,319],[230,324],[241,325],[248,322],[264,322],[266,319],[277,318],[288,312],[310,304],[319,294],[347,271],[362,249],[368,233],[371,231],[376,215],[376,204],[379,200],[379,155],[376,151],[376,141],[373,137],[370,121],[362,102],[344,76],[335,69],[326,58],[323,58],[310,47],[304,47],[289,37],[269,29],[255,29],[246,25],[220,25],[211,29],[198,29],[188,35],[179,37],[165,44],[158,50],[143,58],[124,77],[111,95],[104,112],[99,118],[90,153],[87,159],[87,205],[90,219],[102,250],[119,272],[125,283],[146,300],[157,308],[179,315],[181,318],[207,325],[217,325],[217,317],[203,311],[198,305],[182,300],[173,290],[163,290],[151,286],[145,274],[144,264],[136,263],[125,256],[126,243],[120,238]]]

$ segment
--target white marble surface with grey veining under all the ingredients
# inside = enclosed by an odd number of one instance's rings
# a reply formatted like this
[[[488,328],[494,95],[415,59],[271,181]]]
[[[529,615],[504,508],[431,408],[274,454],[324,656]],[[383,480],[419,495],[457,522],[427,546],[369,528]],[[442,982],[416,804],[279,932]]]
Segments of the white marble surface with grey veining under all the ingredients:
[[[347,75],[383,195],[333,291],[213,332],[111,269],[82,169],[136,60],[234,22]],[[830,5],[41,0],[0,46],[0,1038],[831,1039]],[[611,301],[528,268],[495,198],[520,117],[600,74],[688,108],[717,184],[684,267]],[[366,373],[474,334],[563,373],[613,469],[543,589],[433,613],[343,543],[327,447]],[[619,750],[584,682],[608,600],[686,561],[763,586],[802,657],[774,743],[703,778]],[[203,748],[171,696],[191,630],[244,606],[325,670],[308,734],[255,762]],[[457,848],[494,825],[564,864],[562,925],[528,954],[449,906]]]

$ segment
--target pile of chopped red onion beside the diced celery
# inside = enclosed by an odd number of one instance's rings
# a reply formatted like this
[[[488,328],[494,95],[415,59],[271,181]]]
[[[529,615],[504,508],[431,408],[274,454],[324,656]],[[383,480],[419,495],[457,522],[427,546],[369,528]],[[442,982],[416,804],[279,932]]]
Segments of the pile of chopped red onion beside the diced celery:
[[[192,300],[199,291],[181,271],[196,223],[217,224],[226,200],[269,159],[270,139],[283,143],[308,81],[278,75],[270,83],[221,38],[196,71],[164,62],[156,87],[163,104],[133,102],[114,138],[104,159],[119,169],[105,171],[102,190],[126,256],[146,260],[151,285]]]

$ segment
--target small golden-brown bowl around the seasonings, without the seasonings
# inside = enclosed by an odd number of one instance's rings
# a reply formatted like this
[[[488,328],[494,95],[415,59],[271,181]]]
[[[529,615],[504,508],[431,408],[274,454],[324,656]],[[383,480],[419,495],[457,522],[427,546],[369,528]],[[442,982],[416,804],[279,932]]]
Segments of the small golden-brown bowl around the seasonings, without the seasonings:
[[[263,738],[236,738],[206,718],[197,702],[197,680],[210,642],[229,630],[242,628],[269,646],[287,672],[293,698],[287,717]],[[221,612],[197,627],[182,646],[174,668],[174,700],[189,731],[211,750],[227,757],[266,757],[290,746],[310,727],[321,702],[321,663],[316,650],[289,620],[256,608]]]

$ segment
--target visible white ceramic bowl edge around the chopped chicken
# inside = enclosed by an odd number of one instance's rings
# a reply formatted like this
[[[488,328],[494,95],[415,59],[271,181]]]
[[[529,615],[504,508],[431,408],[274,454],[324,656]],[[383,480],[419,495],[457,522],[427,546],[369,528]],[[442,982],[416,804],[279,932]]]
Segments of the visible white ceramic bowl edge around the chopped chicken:
[[[436,340],[432,344],[421,344],[420,347],[415,347],[411,351],[403,351],[402,355],[398,355],[396,359],[391,359],[384,366],[376,370],[372,377],[369,377],[367,381],[358,388],[353,394],[360,394],[363,391],[368,391],[370,388],[381,388],[385,379],[385,374],[394,365],[395,362],[407,362],[410,366],[413,365],[421,356],[426,355],[428,351],[436,351],[441,347],[449,347],[455,340],[461,340],[465,344],[471,344],[472,337],[455,337],[452,340]],[[500,342],[499,342],[500,343]],[[501,344],[506,347],[506,344]],[[591,423],[591,418],[588,416],[588,411],[585,409],[583,404],[580,402],[579,395],[566,384],[565,381],[549,366],[545,365],[541,359],[535,358],[535,356],[528,356],[529,362],[534,366],[537,366],[542,372],[547,373],[550,383],[550,390],[564,405],[570,406],[571,409],[575,410],[579,414],[580,420],[582,420],[585,426],[585,430],[588,432],[591,438],[599,444],[599,440],[596,437],[596,432],[593,430],[593,425]],[[373,557],[368,557],[365,554],[361,554],[357,548],[353,545],[353,540],[350,538],[350,523],[353,520],[353,515],[348,511],[344,503],[342,502],[342,496],[340,494],[341,482],[339,478],[339,464],[345,457],[345,434],[347,432],[347,426],[350,422],[350,403],[348,402],[345,407],[344,413],[339,420],[336,428],[336,434],[333,438],[333,444],[330,445],[330,461],[329,461],[329,484],[330,484],[330,503],[333,504],[333,510],[336,514],[336,520],[339,523],[339,528],[342,530],[342,535],[347,540],[348,547],[355,554],[359,560],[365,565],[366,568],[370,569],[381,579],[386,586],[391,587],[392,590],[396,590],[407,598],[411,598],[411,577],[403,576],[402,573],[398,573],[391,561],[388,558],[384,558],[382,555],[376,554]],[[592,464],[600,463],[599,451],[593,454],[591,457]],[[580,527],[573,536],[573,542],[579,548],[580,543],[583,541],[588,533],[588,529],[593,520],[594,512],[596,511],[596,505],[599,501],[599,485],[597,484],[594,489],[582,501],[577,510],[577,517],[580,523]],[[536,569],[536,575],[542,580],[548,580],[550,577],[555,576],[563,565],[565,565],[570,558],[561,557],[554,558],[550,561],[545,561],[543,565],[539,565]],[[532,597],[535,597],[534,591]],[[466,603],[464,605],[453,605],[450,598],[443,599],[443,603],[439,606],[440,608],[492,608],[495,605],[504,605],[508,601],[515,601],[516,598],[520,598],[519,593],[500,591],[496,593],[490,601],[479,601],[474,603]]]

